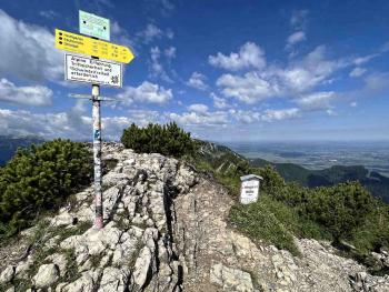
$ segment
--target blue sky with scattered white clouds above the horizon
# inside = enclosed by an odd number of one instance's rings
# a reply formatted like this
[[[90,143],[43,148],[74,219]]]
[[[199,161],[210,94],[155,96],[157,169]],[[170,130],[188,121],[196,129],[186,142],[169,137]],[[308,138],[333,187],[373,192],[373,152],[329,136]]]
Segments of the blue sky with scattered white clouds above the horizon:
[[[78,10],[130,47],[123,89],[102,88],[104,139],[176,121],[212,141],[388,140],[388,1],[0,1],[0,131],[90,139],[56,28]]]

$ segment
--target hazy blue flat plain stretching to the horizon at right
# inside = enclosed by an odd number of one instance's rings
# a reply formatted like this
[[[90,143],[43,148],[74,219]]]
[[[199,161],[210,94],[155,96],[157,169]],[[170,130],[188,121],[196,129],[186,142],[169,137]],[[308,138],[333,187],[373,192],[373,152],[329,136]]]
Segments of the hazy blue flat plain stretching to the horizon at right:
[[[389,177],[389,142],[231,142],[223,143],[247,158],[290,162],[307,169],[363,165]]]

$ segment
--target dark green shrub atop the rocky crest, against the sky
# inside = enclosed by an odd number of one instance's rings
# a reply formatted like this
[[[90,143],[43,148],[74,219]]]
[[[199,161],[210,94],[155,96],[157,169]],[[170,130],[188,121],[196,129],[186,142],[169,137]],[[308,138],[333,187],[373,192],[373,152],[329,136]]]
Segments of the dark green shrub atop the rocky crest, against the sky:
[[[176,123],[164,125],[150,123],[146,128],[132,123],[123,131],[121,142],[138,153],[160,153],[176,158],[191,155],[197,149],[197,143],[190,138],[190,133],[184,132]]]

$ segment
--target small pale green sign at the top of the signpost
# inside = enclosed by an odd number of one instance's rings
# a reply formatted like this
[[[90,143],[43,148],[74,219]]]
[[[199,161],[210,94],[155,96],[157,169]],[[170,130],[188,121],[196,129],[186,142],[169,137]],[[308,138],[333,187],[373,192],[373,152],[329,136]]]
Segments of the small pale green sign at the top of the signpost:
[[[79,10],[79,20],[80,33],[109,41],[109,19]]]

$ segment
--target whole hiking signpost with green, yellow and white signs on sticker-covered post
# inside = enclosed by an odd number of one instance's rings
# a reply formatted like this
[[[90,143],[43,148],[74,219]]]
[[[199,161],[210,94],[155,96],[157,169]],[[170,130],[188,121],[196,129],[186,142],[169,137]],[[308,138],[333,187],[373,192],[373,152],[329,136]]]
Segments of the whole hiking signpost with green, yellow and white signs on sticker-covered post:
[[[93,120],[93,170],[94,170],[94,228],[103,228],[102,190],[101,190],[101,101],[116,101],[100,97],[100,84],[122,87],[122,64],[99,60],[99,58],[129,63],[133,53],[127,47],[101,41],[98,38],[110,39],[109,19],[84,11],[79,11],[79,29],[81,34],[56,29],[56,48],[73,53],[87,54],[81,57],[66,54],[64,78],[68,81],[87,82],[92,84],[92,94],[70,94],[72,98],[90,99],[92,101]]]

